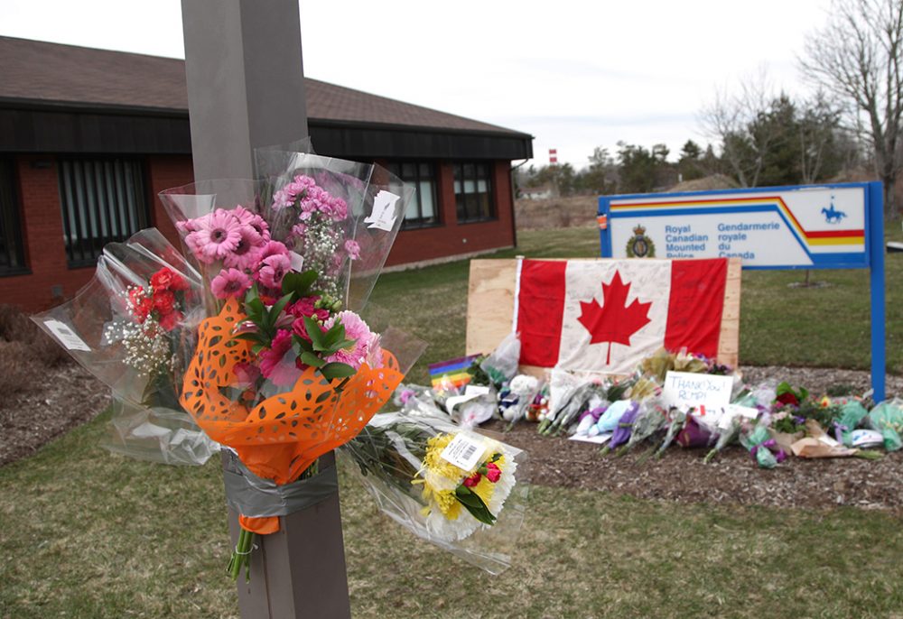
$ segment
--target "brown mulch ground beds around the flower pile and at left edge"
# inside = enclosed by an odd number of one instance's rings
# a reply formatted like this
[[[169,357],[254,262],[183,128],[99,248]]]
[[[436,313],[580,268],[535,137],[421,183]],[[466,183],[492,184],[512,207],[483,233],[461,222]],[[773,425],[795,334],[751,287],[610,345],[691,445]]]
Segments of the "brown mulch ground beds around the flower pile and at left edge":
[[[864,392],[869,374],[816,368],[743,367],[748,382],[781,376],[822,393],[833,384]],[[79,365],[67,364],[42,381],[41,389],[0,403],[0,464],[27,457],[45,442],[92,419],[109,401],[106,388]],[[78,393],[79,397],[72,397]],[[888,393],[903,394],[903,377],[889,377]],[[500,423],[489,430],[501,430]],[[641,446],[623,457],[601,456],[599,447],[539,436],[534,424],[507,433],[508,442],[529,453],[534,483],[606,490],[638,498],[676,502],[759,504],[785,507],[854,505],[903,513],[903,453],[880,460],[791,459],[774,470],[756,466],[742,448],[725,449],[710,464],[705,450],[669,448],[661,459],[639,462]]]

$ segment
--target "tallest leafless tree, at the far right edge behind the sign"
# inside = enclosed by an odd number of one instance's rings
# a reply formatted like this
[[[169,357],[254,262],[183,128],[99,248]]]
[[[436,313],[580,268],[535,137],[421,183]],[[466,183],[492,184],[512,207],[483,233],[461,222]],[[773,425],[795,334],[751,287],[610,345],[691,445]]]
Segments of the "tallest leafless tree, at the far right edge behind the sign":
[[[842,95],[874,152],[885,214],[896,216],[894,185],[903,168],[903,0],[835,0],[824,29],[805,42],[805,75]],[[861,118],[864,116],[864,118]],[[857,122],[861,121],[861,122]]]

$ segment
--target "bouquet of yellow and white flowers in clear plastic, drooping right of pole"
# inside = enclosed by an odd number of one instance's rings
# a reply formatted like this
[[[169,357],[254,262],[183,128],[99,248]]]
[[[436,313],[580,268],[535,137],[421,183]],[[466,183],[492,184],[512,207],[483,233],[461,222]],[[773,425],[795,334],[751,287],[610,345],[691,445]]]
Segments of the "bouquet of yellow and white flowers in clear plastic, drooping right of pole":
[[[510,567],[528,494],[525,451],[438,418],[390,412],[340,455],[405,529],[491,574]]]

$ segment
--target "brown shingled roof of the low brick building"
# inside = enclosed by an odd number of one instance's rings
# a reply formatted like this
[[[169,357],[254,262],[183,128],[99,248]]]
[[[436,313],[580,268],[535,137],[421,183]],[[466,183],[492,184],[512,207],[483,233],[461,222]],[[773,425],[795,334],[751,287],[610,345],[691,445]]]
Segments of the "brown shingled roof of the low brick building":
[[[312,120],[526,136],[497,125],[305,79]],[[0,101],[187,113],[185,61],[0,36]]]

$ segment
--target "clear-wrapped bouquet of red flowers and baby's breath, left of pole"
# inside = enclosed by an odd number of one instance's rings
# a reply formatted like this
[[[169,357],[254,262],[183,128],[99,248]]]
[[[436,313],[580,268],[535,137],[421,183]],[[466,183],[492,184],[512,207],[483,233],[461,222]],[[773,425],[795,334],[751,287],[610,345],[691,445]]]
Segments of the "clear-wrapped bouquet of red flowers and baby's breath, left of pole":
[[[203,464],[219,449],[178,402],[203,318],[200,274],[154,228],[107,245],[94,277],[33,320],[113,391],[103,447],[168,464]]]

